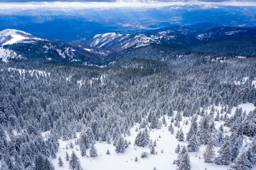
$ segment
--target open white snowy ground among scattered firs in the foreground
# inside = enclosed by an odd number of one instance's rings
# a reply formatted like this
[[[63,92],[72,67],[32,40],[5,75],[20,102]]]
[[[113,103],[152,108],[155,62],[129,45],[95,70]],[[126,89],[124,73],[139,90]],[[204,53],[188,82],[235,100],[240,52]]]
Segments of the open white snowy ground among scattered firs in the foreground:
[[[242,111],[246,111],[246,113],[249,113],[250,111],[253,111],[255,109],[255,106],[252,105],[252,103],[246,103],[241,104],[238,106],[239,108],[242,108]],[[216,111],[220,111],[220,106],[215,106]],[[232,113],[228,116],[230,117],[235,113],[235,109],[233,108]],[[210,108],[207,110],[208,113],[210,113]],[[176,113],[176,112],[175,112]],[[216,113],[216,112],[215,112]],[[225,113],[224,113],[225,114]],[[224,115],[223,114],[223,115]],[[165,115],[166,116],[166,115]],[[221,116],[221,115],[220,115]],[[200,120],[200,116],[198,116],[198,121]],[[186,138],[186,133],[188,132],[190,128],[190,121],[188,121],[188,125],[185,124],[186,120],[189,118],[183,118],[183,120],[180,122],[181,128],[183,130],[183,133]],[[161,120],[161,119],[160,119]],[[97,149],[98,157],[91,158],[91,157],[81,157],[79,146],[75,145],[75,140],[78,138],[69,140],[69,141],[63,141],[60,140],[60,147],[57,153],[57,158],[52,159],[52,162],[55,166],[55,169],[63,169],[68,170],[68,162],[65,161],[65,152],[68,152],[69,155],[74,151],[79,159],[82,166],[82,169],[87,170],[101,170],[101,169],[112,169],[112,170],[130,170],[130,169],[156,169],[158,170],[169,170],[169,169],[176,169],[176,165],[173,164],[174,160],[177,159],[177,154],[174,152],[176,149],[176,146],[178,144],[180,145],[187,145],[186,142],[178,142],[176,140],[176,132],[179,128],[174,127],[174,134],[171,135],[171,132],[168,130],[168,126],[171,124],[171,119],[167,118],[166,116],[166,122],[167,126],[162,126],[161,129],[158,130],[151,130],[149,132],[150,140],[156,140],[156,152],[157,154],[150,154],[148,158],[142,159],[140,155],[142,152],[149,152],[149,147],[137,147],[134,146],[134,140],[137,136],[138,132],[136,132],[136,128],[139,128],[139,125],[135,125],[131,130],[131,135],[124,137],[128,142],[131,142],[131,145],[126,149],[126,151],[122,154],[117,154],[114,149],[115,147],[112,144],[107,144],[107,142],[96,142],[95,147]],[[215,121],[215,128],[218,128],[220,124],[223,124],[223,121],[216,122]],[[228,129],[225,128],[225,131],[228,134]],[[161,137],[159,137],[161,136]],[[245,137],[245,141],[250,142],[250,139]],[[73,142],[75,147],[73,149],[70,149],[69,144],[70,142]],[[66,149],[66,145],[68,145],[68,149]],[[206,146],[201,145],[200,150],[198,152],[190,152],[189,156],[191,159],[191,169],[195,170],[226,170],[229,168],[229,166],[218,166],[215,164],[206,164],[203,160],[203,152],[205,150]],[[244,148],[244,147],[242,147]],[[107,149],[110,150],[110,154],[106,154]],[[217,154],[219,148],[215,148],[215,153]],[[161,150],[163,150],[163,153],[161,153]],[[87,154],[89,153],[89,149],[87,149]],[[58,157],[61,157],[64,162],[63,167],[58,166]],[[139,159],[138,162],[134,162],[134,158],[137,157]]]

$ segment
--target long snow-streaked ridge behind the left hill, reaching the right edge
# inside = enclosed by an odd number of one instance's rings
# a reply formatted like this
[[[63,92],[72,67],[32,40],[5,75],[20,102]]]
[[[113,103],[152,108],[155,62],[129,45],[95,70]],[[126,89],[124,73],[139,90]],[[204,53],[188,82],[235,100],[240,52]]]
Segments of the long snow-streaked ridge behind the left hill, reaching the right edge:
[[[122,51],[128,48],[144,47],[151,44],[194,44],[210,40],[228,40],[235,38],[250,38],[256,35],[251,28],[221,27],[206,31],[185,27],[163,28],[158,32],[144,34],[104,33],[90,39],[82,38],[73,41],[77,45],[105,50]]]

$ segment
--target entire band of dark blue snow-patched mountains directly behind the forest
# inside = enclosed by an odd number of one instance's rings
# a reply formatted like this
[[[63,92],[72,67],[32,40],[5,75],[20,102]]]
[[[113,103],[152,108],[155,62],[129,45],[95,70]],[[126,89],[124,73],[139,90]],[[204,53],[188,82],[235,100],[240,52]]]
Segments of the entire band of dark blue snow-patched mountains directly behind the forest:
[[[65,62],[100,66],[120,58],[118,57],[119,52],[123,54],[127,50],[150,45],[167,45],[169,47],[179,45],[183,50],[218,54],[217,50],[217,53],[213,52],[213,49],[218,47],[216,42],[218,45],[225,42],[232,46],[231,49],[240,46],[242,50],[241,44],[234,43],[235,40],[249,40],[249,42],[252,40],[253,44],[256,40],[256,30],[220,27],[204,31],[186,27],[169,27],[153,33],[104,33],[88,39],[81,38],[73,42],[63,42],[41,38],[21,30],[6,29],[0,32],[0,58],[4,62],[19,59],[33,62]],[[253,45],[249,46],[255,48]]]

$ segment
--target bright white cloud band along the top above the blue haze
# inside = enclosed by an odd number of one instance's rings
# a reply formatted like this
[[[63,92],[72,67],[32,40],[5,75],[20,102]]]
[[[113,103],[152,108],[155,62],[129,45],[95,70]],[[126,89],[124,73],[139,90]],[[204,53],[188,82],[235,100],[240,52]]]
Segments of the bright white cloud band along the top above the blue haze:
[[[256,6],[255,1],[137,1],[119,0],[116,2],[67,2],[67,1],[48,1],[48,2],[23,2],[23,3],[0,3],[0,10],[26,10],[26,9],[83,9],[83,8],[159,8],[174,5],[223,5],[223,6]]]

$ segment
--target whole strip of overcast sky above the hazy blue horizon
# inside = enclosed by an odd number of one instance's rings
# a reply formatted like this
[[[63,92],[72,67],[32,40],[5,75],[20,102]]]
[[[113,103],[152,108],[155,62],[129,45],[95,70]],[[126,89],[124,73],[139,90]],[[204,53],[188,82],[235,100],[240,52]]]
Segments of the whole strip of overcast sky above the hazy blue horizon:
[[[11,2],[11,3],[10,3]],[[174,5],[256,6],[256,0],[0,0],[0,10],[82,8],[158,8]]]

